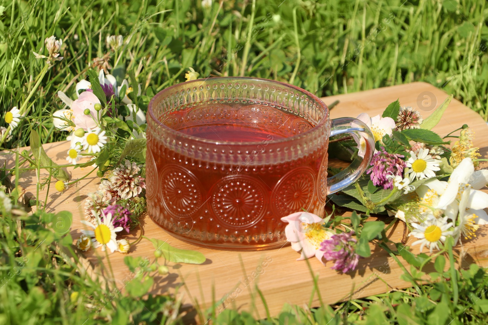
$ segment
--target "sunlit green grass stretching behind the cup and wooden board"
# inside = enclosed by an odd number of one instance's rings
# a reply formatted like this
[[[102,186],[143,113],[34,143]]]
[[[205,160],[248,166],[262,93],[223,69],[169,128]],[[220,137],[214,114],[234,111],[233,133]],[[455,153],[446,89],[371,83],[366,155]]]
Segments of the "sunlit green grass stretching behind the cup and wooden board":
[[[44,64],[43,40],[64,41],[64,59],[44,76],[29,101],[53,132],[49,114],[73,95],[107,35],[126,44],[109,62],[135,69],[151,96],[200,76],[256,76],[293,83],[319,96],[427,81],[488,119],[486,1],[3,1],[0,23],[0,107],[20,106]],[[1,122],[4,125],[4,122]],[[27,122],[24,122],[24,125]],[[19,128],[6,147],[22,146]]]

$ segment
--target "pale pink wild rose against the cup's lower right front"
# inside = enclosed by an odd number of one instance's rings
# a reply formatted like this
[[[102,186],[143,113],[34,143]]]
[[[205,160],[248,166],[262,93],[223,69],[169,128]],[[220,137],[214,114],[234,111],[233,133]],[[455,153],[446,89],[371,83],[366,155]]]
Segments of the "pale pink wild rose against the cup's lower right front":
[[[291,248],[295,251],[302,250],[297,261],[315,256],[324,264],[324,251],[320,249],[320,244],[333,235],[329,229],[322,227],[324,219],[308,212],[295,212],[281,218],[281,221],[288,223],[285,235],[286,240],[291,242]]]

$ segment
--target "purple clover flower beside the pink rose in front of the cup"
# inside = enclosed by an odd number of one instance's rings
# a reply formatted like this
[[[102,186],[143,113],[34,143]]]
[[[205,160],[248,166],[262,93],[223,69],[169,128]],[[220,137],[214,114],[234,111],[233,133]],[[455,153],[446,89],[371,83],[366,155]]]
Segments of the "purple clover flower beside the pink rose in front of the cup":
[[[343,273],[354,270],[358,266],[359,255],[356,253],[356,239],[350,232],[332,235],[330,239],[320,243],[327,261],[335,260],[332,269]]]

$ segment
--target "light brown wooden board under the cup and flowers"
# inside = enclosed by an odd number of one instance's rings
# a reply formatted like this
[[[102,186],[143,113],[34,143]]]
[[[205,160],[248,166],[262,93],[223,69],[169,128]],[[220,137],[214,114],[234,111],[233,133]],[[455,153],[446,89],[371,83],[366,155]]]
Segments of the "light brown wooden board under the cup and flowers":
[[[424,96],[430,97],[430,99]],[[340,100],[340,103],[331,110],[331,118],[355,117],[363,112],[371,116],[381,114],[386,106],[397,98],[400,98],[400,103],[403,106],[420,108],[420,112],[426,117],[446,97],[446,93],[427,83],[415,82],[354,94],[330,96],[323,98],[323,100],[326,104]],[[434,101],[436,101],[436,105],[431,104]],[[432,107],[428,107],[429,104]],[[459,128],[464,123],[476,131],[475,145],[481,148],[482,156],[486,157],[488,126],[478,114],[459,101],[454,99],[451,102],[446,114],[434,131],[444,135]],[[68,141],[46,144],[44,148],[54,161],[59,164],[66,163]],[[7,160],[8,166],[14,165],[15,156],[11,153],[4,153],[2,159]],[[67,170],[72,178],[76,179],[89,172],[91,167],[67,168]],[[80,236],[80,229],[84,227],[80,223],[83,215],[83,201],[87,198],[88,192],[96,191],[98,180],[95,173],[92,173],[63,193],[53,191],[54,181],[51,183],[46,208],[48,211],[69,210],[73,212],[71,234],[75,239]],[[36,181],[34,172],[24,172],[20,176],[20,185],[27,188],[27,195],[36,194]],[[41,191],[40,200],[46,199],[45,192],[45,189]],[[185,285],[179,289],[178,294],[184,294],[183,306],[189,312],[187,319],[192,319],[195,316],[195,311],[191,307],[192,301],[198,301],[200,307],[205,309],[211,306],[212,296],[215,297],[215,301],[223,300],[223,303],[217,307],[218,310],[223,310],[229,306],[240,310],[252,310],[256,317],[261,318],[266,316],[264,304],[269,308],[271,315],[276,316],[285,303],[303,306],[310,300],[313,283],[309,268],[304,261],[295,260],[299,255],[289,246],[282,249],[251,252],[203,249],[185,244],[168,235],[147,216],[142,220],[142,226],[145,236],[149,238],[167,240],[171,245],[178,248],[201,251],[207,258],[203,265],[175,265],[170,267],[168,276],[155,275],[155,286],[151,290],[152,293],[175,292],[175,288],[182,286],[184,280]],[[398,223],[390,230],[389,238],[400,241],[403,226]],[[139,235],[139,230],[135,230],[126,238],[133,241]],[[414,252],[418,252],[417,249],[414,249]],[[468,253],[461,263],[468,264],[472,261],[478,261],[481,265],[488,266],[486,259],[488,256],[488,228],[482,227],[479,230],[478,237],[464,243],[463,249]],[[153,250],[149,241],[142,240],[131,247],[130,255],[152,260],[154,258]],[[88,252],[86,257],[94,265],[105,262],[105,256],[100,249]],[[121,288],[124,287],[124,281],[130,281],[131,278],[130,272],[123,263],[123,258],[124,255],[117,252],[110,255],[115,278]],[[361,259],[358,269],[348,274],[339,274],[331,270],[330,262],[324,267],[315,258],[309,261],[313,272],[319,274],[318,285],[325,304],[378,294],[394,288],[409,287],[408,283],[400,280],[400,275],[403,272],[398,265],[389,258],[384,250],[379,248],[373,248],[372,256]],[[109,276],[106,268],[102,267],[101,271],[104,275]],[[259,286],[263,292],[265,303],[257,294],[255,286]],[[315,295],[312,306],[318,305],[319,301]]]

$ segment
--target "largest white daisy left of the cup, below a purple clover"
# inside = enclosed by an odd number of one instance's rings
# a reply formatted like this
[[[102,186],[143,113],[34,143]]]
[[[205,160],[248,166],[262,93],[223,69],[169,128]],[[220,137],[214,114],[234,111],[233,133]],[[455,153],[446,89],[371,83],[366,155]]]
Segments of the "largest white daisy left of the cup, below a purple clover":
[[[114,228],[114,225],[112,225],[111,213],[105,215],[105,213],[101,211],[103,221],[100,220],[100,217],[95,210],[93,210],[92,213],[95,215],[95,225],[86,220],[81,220],[81,223],[93,228],[93,230],[81,230],[81,232],[84,235],[93,237],[92,244],[94,248],[102,246],[102,251],[105,251],[105,249],[108,247],[108,249],[110,249],[110,252],[114,252],[114,250],[118,249],[116,232],[121,231],[123,228]]]

